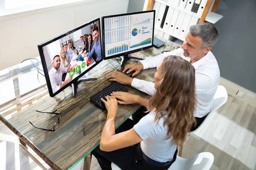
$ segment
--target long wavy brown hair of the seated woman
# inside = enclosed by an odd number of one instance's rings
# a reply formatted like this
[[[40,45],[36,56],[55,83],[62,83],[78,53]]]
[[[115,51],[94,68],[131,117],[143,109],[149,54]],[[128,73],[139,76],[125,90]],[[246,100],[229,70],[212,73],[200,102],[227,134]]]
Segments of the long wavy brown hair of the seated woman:
[[[155,94],[149,99],[149,110],[155,109],[154,122],[164,118],[168,126],[167,138],[173,144],[186,140],[192,123],[195,122],[195,68],[185,59],[166,57],[160,65],[160,82]]]

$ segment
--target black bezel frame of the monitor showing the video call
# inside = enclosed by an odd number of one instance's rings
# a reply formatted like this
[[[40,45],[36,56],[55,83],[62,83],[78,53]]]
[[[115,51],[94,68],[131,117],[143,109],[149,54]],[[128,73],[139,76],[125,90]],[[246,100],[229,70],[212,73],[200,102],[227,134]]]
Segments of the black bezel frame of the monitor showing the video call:
[[[96,65],[98,65],[100,62],[102,62],[103,60],[103,55],[102,55],[102,59],[97,61],[96,64],[94,64],[93,66],[91,66],[90,68],[88,68],[86,71],[84,71],[83,73],[81,73],[78,77],[76,77],[75,79],[72,79],[70,82],[67,83],[67,85],[65,85],[64,87],[60,88],[58,91],[56,91],[55,93],[52,92],[52,86],[51,86],[51,82],[50,82],[50,79],[49,79],[49,74],[48,74],[48,70],[47,70],[47,65],[46,65],[46,61],[45,61],[45,58],[44,58],[44,52],[43,52],[43,47],[52,43],[52,42],[55,42],[56,40],[59,40],[60,38],[63,38],[69,34],[72,34],[73,32],[81,29],[81,28],[84,28],[86,26],[89,26],[91,23],[94,23],[96,21],[99,21],[99,40],[101,40],[101,26],[100,26],[100,18],[96,18],[94,20],[91,20],[87,23],[85,23],[84,25],[82,26],[79,26],[71,31],[68,31],[67,33],[64,33],[64,34],[61,34],[57,37],[54,37],[50,40],[47,40],[41,44],[38,45],[38,50],[39,50],[39,55],[40,55],[40,58],[41,58],[41,62],[42,62],[42,67],[44,69],[44,76],[45,76],[45,79],[46,79],[46,83],[47,83],[47,87],[48,87],[48,91],[49,91],[49,95],[51,97],[54,97],[56,96],[57,94],[59,94],[61,91],[63,91],[65,88],[67,88],[68,86],[70,86],[73,82],[77,81],[79,78],[81,78],[82,76],[84,76],[84,74],[86,74],[88,71],[90,71],[91,69],[93,69]],[[101,43],[101,42],[100,42]],[[102,46],[102,44],[101,44]],[[102,49],[101,49],[101,54],[102,54]]]

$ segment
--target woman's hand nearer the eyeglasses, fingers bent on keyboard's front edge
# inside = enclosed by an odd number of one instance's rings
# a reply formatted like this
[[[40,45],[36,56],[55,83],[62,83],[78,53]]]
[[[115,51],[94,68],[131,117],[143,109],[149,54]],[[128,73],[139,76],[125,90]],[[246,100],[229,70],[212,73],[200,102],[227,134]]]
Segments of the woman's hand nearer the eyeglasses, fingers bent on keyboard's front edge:
[[[116,112],[117,112],[117,100],[113,96],[105,96],[107,100],[101,99],[102,102],[105,104],[106,109],[108,110],[108,116],[116,117]]]

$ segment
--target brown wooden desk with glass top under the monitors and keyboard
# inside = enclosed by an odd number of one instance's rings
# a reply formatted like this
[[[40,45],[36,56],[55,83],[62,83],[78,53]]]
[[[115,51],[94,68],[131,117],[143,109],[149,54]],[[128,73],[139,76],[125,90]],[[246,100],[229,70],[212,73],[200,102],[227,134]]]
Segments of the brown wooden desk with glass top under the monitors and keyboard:
[[[162,48],[150,48],[135,53],[133,56],[145,58],[148,57],[148,55],[154,56],[160,54],[161,51],[173,50],[175,48],[178,48],[178,46],[168,41]],[[107,112],[102,112],[102,110],[97,108],[88,98],[110,84],[105,78],[107,74],[115,70],[123,70],[123,68],[120,67],[120,61],[121,59],[118,58],[104,60],[85,74],[86,78],[98,79],[93,82],[79,84],[76,97],[73,97],[71,87],[66,88],[53,98],[44,94],[43,99],[41,97],[37,103],[30,103],[29,107],[24,111],[19,110],[8,119],[6,118],[9,116],[7,113],[13,110],[4,112],[0,116],[0,120],[16,134],[22,142],[31,147],[50,167],[53,169],[69,169],[78,161],[81,161],[99,144]],[[129,60],[128,62],[137,61]],[[138,74],[136,78],[154,81],[155,70],[155,68],[144,70]],[[21,74],[19,71],[16,72],[17,75]],[[8,75],[5,76],[8,77]],[[0,80],[3,80],[3,77],[0,77]],[[38,80],[33,79],[32,81]],[[146,98],[150,97],[131,86],[125,87],[128,88],[131,94],[137,94]],[[24,96],[18,96],[18,98],[19,97],[22,98]],[[18,98],[4,105],[15,102],[17,106],[20,107],[21,104]],[[27,101],[25,104],[29,102],[30,101]],[[139,107],[140,105],[137,104],[119,105],[115,119],[115,127],[121,125],[122,122],[128,119]],[[36,110],[56,113],[61,112],[62,118],[58,129],[51,132],[32,127],[29,121],[37,127],[52,128],[58,119],[56,115],[38,113]]]

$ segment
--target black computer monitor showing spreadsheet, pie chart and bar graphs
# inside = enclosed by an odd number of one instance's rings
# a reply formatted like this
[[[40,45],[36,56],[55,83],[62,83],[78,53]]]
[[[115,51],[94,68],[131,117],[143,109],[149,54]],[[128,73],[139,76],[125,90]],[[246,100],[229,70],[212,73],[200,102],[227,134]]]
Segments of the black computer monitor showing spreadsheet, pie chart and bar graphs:
[[[155,10],[103,16],[103,59],[136,59],[128,54],[153,47],[154,18]]]

